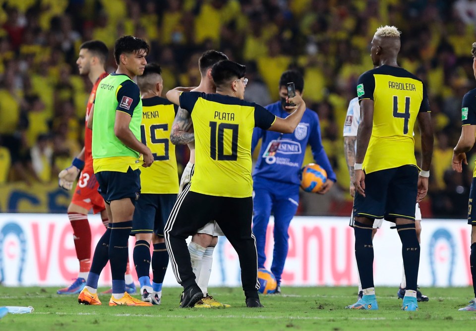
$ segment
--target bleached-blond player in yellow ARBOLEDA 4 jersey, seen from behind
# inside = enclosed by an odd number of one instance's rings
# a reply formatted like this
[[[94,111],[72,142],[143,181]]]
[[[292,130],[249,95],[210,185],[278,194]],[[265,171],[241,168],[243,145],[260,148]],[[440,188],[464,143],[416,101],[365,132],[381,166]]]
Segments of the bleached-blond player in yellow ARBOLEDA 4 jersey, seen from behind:
[[[415,230],[415,203],[428,190],[433,152],[433,130],[426,87],[397,64],[400,31],[380,27],[371,43],[370,56],[378,68],[363,73],[357,82],[361,120],[357,131],[354,185],[356,260],[363,296],[351,309],[378,309],[373,284],[372,224],[375,219],[394,221],[402,241],[407,278],[403,310],[418,309],[416,279],[420,246]],[[418,175],[414,124],[421,132],[422,163]]]

